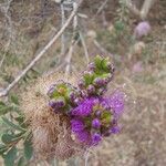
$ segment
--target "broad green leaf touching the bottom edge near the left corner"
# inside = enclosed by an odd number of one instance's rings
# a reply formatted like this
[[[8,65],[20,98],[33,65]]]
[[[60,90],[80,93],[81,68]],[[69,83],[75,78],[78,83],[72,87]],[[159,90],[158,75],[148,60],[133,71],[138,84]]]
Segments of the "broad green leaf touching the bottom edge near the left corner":
[[[17,158],[17,148],[12,147],[4,156],[4,165],[6,166],[13,166],[14,165],[14,160]]]

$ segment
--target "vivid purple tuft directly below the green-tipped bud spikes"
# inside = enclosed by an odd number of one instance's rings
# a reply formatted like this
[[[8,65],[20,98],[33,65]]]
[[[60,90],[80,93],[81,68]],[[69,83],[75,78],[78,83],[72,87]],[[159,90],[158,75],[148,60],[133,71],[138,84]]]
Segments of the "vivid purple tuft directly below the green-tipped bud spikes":
[[[74,116],[89,116],[92,113],[93,105],[97,102],[97,98],[86,98],[80,105],[71,111],[71,115]]]

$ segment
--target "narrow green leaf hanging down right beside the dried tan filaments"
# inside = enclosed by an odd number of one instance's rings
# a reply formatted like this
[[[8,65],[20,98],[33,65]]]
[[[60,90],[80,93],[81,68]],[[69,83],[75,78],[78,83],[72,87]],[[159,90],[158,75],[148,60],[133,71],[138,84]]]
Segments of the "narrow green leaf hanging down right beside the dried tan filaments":
[[[31,159],[33,153],[32,143],[30,141],[24,142],[24,156],[27,160]]]

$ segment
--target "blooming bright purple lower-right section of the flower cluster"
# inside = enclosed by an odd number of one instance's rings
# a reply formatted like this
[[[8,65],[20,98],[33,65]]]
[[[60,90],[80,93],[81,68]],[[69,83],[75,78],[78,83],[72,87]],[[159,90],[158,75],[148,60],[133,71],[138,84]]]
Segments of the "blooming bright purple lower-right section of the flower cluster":
[[[124,95],[120,92],[110,97],[85,98],[71,111],[71,129],[80,142],[97,145],[104,136],[120,132],[117,117],[123,110]]]

